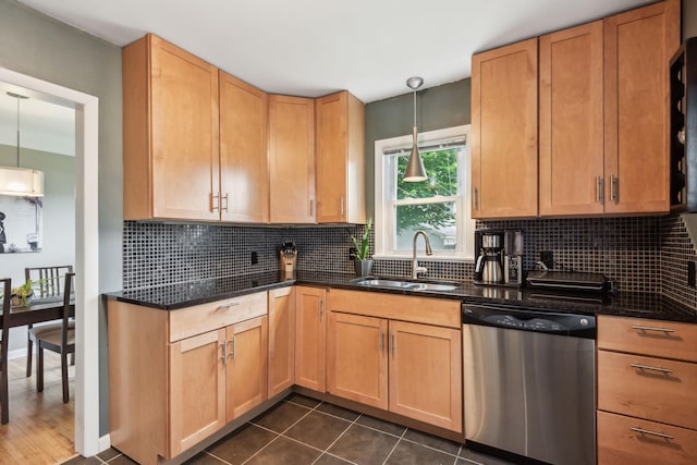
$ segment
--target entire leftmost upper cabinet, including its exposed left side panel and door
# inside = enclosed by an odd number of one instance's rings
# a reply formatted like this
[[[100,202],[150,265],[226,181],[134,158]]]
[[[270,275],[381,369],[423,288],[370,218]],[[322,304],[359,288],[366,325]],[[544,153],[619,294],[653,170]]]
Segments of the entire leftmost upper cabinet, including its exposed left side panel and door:
[[[218,220],[218,70],[154,35],[123,49],[125,220]]]

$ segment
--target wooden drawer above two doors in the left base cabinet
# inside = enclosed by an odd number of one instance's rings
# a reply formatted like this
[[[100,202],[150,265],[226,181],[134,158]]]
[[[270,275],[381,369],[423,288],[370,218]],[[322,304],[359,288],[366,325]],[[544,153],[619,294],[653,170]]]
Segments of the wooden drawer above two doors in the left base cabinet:
[[[242,295],[170,311],[170,342],[267,314],[267,294]]]

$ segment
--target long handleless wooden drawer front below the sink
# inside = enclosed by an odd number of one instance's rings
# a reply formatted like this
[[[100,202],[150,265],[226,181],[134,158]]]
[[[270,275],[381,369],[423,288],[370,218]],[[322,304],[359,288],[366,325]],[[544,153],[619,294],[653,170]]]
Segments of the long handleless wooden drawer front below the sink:
[[[329,292],[329,309],[368,317],[412,321],[461,329],[460,301],[417,295],[343,291]]]

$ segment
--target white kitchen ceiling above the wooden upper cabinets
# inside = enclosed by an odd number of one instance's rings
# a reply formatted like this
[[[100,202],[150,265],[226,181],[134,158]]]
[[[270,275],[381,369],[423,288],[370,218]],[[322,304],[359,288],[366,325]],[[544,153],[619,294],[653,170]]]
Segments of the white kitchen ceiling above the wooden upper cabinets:
[[[651,0],[20,0],[109,42],[145,33],[277,94],[365,102],[468,77],[470,57]]]

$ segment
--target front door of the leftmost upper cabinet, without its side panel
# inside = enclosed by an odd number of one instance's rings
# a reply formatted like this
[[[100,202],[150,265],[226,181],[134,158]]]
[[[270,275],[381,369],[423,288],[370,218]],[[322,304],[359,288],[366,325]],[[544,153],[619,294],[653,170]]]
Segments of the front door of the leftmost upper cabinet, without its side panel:
[[[218,220],[218,70],[151,38],[152,216]]]

